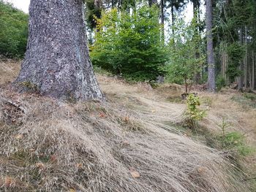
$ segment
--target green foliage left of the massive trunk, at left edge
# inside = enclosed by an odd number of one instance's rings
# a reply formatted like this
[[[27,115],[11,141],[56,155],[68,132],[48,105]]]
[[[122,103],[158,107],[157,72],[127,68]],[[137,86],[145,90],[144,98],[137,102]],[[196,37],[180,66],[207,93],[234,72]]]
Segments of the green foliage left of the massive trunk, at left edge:
[[[0,55],[23,57],[29,16],[0,0]]]

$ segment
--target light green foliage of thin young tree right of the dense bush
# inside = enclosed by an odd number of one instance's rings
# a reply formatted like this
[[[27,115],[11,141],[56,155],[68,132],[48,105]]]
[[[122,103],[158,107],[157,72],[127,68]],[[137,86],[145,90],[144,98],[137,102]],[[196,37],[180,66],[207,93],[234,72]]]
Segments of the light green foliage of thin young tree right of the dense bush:
[[[167,65],[167,80],[178,84],[187,85],[192,82],[195,74],[202,71],[205,55],[197,52],[200,47],[201,38],[197,34],[197,23],[185,23],[183,19],[177,19],[173,26],[175,33],[169,42],[170,62]]]

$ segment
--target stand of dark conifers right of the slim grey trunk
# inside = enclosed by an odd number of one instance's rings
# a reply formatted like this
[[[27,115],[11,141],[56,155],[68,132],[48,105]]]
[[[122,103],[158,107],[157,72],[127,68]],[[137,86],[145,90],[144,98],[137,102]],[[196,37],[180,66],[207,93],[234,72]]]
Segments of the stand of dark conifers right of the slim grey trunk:
[[[214,4],[217,72],[227,84],[255,89],[255,0],[216,1]]]

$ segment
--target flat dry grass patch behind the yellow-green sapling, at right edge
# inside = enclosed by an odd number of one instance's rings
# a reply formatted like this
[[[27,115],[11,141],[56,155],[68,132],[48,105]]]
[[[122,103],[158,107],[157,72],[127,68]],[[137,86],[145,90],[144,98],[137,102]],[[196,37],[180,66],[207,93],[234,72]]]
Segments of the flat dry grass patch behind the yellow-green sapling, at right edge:
[[[229,124],[227,131],[239,131],[245,134],[248,141],[256,144],[256,109],[244,108],[232,97],[239,93],[201,93],[203,107],[208,109],[208,115],[203,121],[212,131],[221,131],[223,118]]]

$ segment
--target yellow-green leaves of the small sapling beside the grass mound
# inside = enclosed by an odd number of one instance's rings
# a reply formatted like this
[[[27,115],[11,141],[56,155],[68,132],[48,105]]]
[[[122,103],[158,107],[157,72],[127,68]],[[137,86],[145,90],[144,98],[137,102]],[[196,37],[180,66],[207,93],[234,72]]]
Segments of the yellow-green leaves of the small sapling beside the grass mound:
[[[206,111],[200,110],[200,99],[195,94],[187,96],[187,115],[191,120],[202,120],[206,116]]]

